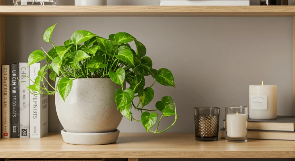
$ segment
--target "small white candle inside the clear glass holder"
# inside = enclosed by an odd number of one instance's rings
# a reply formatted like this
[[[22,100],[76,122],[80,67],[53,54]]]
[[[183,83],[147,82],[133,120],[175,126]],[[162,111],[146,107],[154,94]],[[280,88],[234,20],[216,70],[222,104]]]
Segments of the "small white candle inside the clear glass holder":
[[[247,115],[246,114],[227,114],[226,115],[226,134],[228,137],[247,136]]]

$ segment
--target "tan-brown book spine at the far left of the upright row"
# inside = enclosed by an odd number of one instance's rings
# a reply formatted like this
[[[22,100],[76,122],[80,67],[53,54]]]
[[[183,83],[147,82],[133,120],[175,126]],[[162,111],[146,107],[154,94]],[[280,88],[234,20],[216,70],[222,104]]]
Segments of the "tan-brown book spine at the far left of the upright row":
[[[10,138],[10,67],[2,65],[2,137]]]

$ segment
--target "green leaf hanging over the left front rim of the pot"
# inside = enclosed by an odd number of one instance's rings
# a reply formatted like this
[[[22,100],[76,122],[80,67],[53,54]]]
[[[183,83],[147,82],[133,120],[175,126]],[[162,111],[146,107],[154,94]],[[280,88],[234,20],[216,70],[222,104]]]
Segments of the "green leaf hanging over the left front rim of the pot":
[[[65,101],[65,98],[69,95],[71,92],[73,86],[73,79],[70,78],[61,78],[58,82],[58,92],[60,96],[63,98],[63,101]]]

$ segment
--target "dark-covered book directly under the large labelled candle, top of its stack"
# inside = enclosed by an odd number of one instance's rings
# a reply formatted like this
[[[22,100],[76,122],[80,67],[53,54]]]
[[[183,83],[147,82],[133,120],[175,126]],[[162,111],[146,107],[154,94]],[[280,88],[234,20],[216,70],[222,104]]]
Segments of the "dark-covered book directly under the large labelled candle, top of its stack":
[[[225,127],[225,119],[223,121]],[[248,129],[292,132],[295,130],[295,116],[277,116],[277,119],[271,120],[248,119]]]

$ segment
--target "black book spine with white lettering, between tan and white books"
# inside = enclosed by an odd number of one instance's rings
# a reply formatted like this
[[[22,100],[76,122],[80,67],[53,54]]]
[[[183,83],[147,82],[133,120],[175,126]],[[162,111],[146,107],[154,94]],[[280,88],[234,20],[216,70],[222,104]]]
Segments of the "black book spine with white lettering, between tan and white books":
[[[10,65],[10,137],[19,137],[19,64]]]

